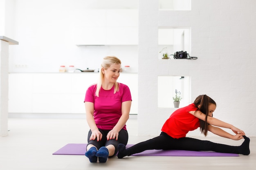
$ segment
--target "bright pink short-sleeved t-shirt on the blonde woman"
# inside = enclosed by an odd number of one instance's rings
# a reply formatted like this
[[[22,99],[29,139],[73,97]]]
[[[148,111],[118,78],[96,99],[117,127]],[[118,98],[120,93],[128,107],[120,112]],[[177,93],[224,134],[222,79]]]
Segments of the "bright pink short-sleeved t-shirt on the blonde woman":
[[[122,115],[122,102],[132,100],[127,85],[119,83],[119,91],[114,94],[114,86],[110,90],[101,87],[99,97],[95,95],[97,84],[90,86],[85,94],[84,102],[94,103],[94,120],[98,128],[110,130],[114,128]],[[126,130],[126,125],[123,127]]]

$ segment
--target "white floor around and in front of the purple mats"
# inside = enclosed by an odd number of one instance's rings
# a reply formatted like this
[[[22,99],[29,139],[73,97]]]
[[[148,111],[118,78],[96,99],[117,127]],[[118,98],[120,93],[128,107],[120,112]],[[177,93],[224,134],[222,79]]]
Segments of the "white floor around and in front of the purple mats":
[[[136,144],[152,138],[137,136],[137,120],[127,122],[129,141]],[[83,155],[52,155],[69,143],[87,143],[85,119],[9,118],[9,135],[0,137],[0,170],[255,170],[256,137],[250,137],[249,156],[239,157],[112,157],[106,163],[90,163]],[[196,137],[240,145],[221,137]]]

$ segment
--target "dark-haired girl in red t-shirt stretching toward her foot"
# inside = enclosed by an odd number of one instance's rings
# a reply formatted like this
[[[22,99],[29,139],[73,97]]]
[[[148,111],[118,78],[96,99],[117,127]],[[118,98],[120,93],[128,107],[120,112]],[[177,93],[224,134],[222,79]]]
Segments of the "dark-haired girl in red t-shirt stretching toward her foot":
[[[223,153],[236,153],[249,155],[250,139],[245,136],[245,132],[231,124],[213,118],[216,109],[216,102],[207,95],[198,96],[193,104],[175,110],[166,120],[162,127],[162,132],[158,137],[141,142],[126,149],[124,144],[118,146],[118,158],[130,156],[144,150],[193,150],[193,151],[215,151]],[[231,129],[235,135],[231,135],[221,128]],[[200,127],[200,131],[207,136],[207,132],[213,132],[221,137],[240,140],[245,139],[241,146],[228,146],[216,144],[211,141],[202,141],[186,137],[186,134]]]

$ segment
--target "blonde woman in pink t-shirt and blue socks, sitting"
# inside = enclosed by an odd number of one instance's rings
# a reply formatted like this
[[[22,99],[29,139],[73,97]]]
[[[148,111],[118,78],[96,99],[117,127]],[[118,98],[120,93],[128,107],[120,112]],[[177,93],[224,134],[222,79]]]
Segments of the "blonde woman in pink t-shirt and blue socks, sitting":
[[[118,144],[126,145],[132,97],[125,84],[117,82],[121,61],[115,56],[104,57],[97,84],[85,94],[86,119],[90,127],[85,156],[90,162],[106,162],[117,153]]]

